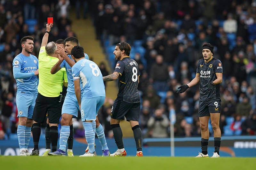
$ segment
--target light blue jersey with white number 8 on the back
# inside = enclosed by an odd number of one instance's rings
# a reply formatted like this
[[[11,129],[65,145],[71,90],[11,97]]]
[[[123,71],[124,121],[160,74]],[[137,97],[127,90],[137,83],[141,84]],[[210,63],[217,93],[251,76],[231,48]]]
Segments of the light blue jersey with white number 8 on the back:
[[[83,98],[105,97],[105,85],[97,64],[81,59],[72,67],[73,79],[82,82]]]

